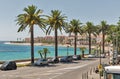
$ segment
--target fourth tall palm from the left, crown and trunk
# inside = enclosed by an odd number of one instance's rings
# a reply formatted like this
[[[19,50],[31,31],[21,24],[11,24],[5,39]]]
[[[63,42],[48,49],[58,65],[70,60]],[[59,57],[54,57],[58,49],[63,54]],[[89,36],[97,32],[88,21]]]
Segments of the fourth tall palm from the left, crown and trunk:
[[[89,36],[89,54],[91,54],[91,34],[95,35],[95,28],[92,22],[87,22],[86,26],[84,27],[84,31]]]

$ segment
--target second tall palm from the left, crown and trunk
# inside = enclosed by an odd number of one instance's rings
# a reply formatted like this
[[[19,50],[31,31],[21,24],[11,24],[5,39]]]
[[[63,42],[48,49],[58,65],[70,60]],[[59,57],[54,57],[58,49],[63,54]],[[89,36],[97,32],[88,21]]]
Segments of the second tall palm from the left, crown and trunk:
[[[65,19],[67,17],[61,14],[59,10],[52,10],[51,15],[47,16],[48,29],[46,34],[50,34],[53,30],[55,34],[55,58],[58,59],[58,29],[62,33],[62,29],[65,27]]]

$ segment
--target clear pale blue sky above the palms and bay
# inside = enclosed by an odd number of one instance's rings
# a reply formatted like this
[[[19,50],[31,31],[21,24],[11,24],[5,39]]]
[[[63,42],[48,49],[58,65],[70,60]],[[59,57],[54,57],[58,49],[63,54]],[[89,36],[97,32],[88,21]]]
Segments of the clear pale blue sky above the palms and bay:
[[[15,41],[17,38],[30,37],[26,29],[17,32],[17,15],[24,13],[28,5],[35,5],[43,10],[43,14],[50,15],[51,10],[60,10],[67,16],[66,21],[79,19],[85,24],[87,21],[100,24],[102,20],[108,24],[117,24],[120,17],[120,0],[0,0],[0,41]],[[45,36],[45,33],[35,26],[35,37]],[[51,35],[54,35],[52,33]],[[61,34],[59,34],[61,35]],[[67,35],[63,32],[63,35]]]

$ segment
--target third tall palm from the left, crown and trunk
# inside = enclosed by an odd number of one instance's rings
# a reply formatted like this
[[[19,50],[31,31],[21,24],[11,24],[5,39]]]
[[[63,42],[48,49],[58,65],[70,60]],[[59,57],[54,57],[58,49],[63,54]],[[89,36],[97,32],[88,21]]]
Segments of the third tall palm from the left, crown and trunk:
[[[67,28],[67,32],[74,33],[74,55],[76,55],[77,49],[77,34],[82,33],[81,25],[82,23],[79,20],[73,19],[69,23],[69,27]]]

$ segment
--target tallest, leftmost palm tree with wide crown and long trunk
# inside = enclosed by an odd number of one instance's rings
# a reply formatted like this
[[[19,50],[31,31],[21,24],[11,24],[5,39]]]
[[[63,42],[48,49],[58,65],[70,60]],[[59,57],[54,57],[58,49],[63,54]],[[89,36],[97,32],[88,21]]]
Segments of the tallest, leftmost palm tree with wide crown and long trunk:
[[[18,32],[29,27],[31,33],[31,64],[34,63],[34,25],[38,25],[42,30],[45,28],[44,19],[41,17],[42,10],[37,10],[34,5],[28,6],[23,10],[25,13],[17,16],[17,24],[20,26]]]

